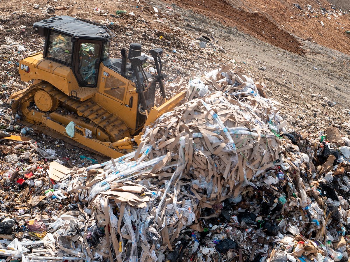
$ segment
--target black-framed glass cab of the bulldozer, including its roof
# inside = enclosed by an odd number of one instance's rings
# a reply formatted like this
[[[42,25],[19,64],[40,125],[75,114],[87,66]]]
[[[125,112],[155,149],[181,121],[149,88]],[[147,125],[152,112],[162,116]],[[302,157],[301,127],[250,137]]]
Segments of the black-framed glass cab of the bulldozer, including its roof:
[[[72,67],[80,87],[97,86],[99,65],[114,36],[106,27],[56,16],[34,23],[34,30],[46,39],[44,58]]]

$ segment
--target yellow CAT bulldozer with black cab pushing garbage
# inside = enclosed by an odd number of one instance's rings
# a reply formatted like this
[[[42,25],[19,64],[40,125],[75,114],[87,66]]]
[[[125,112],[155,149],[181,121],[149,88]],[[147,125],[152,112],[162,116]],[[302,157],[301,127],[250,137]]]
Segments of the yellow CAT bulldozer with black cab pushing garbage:
[[[161,48],[150,50],[155,74],[145,72],[149,56],[131,43],[121,58],[110,58],[115,35],[105,26],[70,16],[34,23],[45,37],[43,52],[20,61],[22,81],[32,85],[12,94],[13,114],[73,139],[83,147],[117,158],[140,143],[144,125],[172,110],[184,93],[166,99]],[[163,104],[154,105],[156,89]]]

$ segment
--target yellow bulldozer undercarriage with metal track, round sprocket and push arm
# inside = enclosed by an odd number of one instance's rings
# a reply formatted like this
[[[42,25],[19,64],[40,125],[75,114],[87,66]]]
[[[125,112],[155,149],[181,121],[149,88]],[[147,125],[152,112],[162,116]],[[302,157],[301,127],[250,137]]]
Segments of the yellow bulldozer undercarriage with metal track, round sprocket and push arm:
[[[84,149],[94,148],[94,152],[112,158],[133,149],[128,127],[92,98],[84,102],[72,99],[48,82],[32,85],[13,97],[13,114],[19,114],[22,120],[36,126],[50,128],[82,144]],[[73,137],[65,130],[70,122],[75,123]]]

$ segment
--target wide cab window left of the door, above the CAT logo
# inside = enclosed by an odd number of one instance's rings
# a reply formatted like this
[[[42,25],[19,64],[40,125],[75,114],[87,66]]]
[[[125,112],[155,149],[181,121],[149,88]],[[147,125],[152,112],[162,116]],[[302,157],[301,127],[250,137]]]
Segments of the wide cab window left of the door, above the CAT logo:
[[[67,35],[51,32],[46,56],[70,64],[72,62],[71,38]]]

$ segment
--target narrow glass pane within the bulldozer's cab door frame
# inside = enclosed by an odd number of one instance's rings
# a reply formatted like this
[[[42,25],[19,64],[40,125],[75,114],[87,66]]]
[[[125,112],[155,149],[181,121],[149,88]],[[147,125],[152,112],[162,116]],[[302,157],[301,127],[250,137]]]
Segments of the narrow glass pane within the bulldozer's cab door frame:
[[[100,56],[100,44],[80,43],[79,45],[79,70],[85,85],[94,85],[97,80],[97,66]]]

